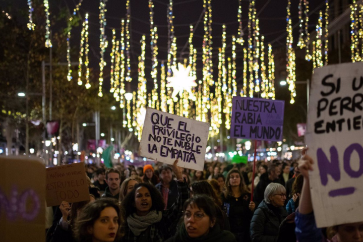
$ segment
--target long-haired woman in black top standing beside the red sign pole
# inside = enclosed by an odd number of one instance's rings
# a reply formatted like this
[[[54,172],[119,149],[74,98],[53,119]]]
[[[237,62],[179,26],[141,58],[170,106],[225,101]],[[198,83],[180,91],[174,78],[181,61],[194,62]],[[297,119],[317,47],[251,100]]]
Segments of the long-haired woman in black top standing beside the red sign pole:
[[[230,231],[238,242],[249,242],[250,222],[255,211],[251,193],[247,190],[239,170],[228,172],[222,193],[223,210],[228,216]]]

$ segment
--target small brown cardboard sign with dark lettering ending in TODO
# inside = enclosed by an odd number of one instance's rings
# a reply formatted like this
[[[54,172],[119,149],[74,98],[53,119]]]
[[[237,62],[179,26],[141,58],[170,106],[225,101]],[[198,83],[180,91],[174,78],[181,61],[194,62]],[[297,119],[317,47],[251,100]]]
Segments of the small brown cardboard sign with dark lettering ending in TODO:
[[[46,169],[46,203],[55,206],[89,200],[84,163],[61,165]]]

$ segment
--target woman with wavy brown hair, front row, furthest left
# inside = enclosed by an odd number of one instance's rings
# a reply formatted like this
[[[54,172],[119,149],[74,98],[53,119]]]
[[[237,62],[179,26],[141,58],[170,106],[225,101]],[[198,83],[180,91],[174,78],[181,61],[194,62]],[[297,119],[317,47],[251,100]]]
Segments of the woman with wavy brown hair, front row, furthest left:
[[[101,198],[87,204],[76,219],[74,236],[79,242],[114,242],[122,235],[117,200]]]

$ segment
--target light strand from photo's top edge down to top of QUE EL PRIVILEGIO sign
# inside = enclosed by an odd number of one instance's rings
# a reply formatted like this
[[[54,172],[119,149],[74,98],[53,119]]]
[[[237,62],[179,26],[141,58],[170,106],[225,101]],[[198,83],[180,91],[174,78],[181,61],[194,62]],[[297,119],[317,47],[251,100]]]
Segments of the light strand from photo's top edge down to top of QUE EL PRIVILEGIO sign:
[[[149,0],[149,9],[150,9],[150,45],[151,45],[151,53],[152,53],[152,59],[151,59],[151,78],[154,81],[154,88],[152,90],[151,94],[151,107],[152,108],[158,108],[158,83],[157,83],[157,66],[158,66],[158,47],[157,47],[157,27],[154,27],[154,4],[152,0]]]

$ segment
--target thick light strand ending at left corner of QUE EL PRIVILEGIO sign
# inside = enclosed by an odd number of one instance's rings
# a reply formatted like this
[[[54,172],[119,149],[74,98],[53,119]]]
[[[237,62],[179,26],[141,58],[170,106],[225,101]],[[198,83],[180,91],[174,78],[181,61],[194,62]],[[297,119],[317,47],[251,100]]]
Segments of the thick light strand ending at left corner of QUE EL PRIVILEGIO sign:
[[[138,139],[141,139],[142,128],[144,125],[146,105],[147,105],[147,95],[146,95],[146,78],[145,78],[145,35],[142,36],[141,40],[141,55],[139,56],[139,66],[138,66],[138,91],[136,101],[136,130],[138,133]],[[144,119],[143,119],[143,118]]]

